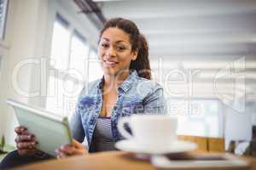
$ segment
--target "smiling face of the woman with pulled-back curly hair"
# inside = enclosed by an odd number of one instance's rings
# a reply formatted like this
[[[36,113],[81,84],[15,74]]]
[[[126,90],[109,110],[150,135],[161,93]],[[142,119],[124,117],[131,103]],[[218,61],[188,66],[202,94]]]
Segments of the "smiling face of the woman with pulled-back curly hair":
[[[117,27],[103,31],[98,47],[105,74],[117,75],[119,71],[129,69],[131,59],[137,58],[137,52],[131,51],[130,37]]]

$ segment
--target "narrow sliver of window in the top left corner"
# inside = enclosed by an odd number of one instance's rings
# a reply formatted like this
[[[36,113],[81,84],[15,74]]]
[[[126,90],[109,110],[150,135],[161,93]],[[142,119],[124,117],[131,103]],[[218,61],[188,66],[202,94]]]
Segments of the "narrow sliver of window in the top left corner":
[[[0,39],[4,38],[8,0],[0,0]]]

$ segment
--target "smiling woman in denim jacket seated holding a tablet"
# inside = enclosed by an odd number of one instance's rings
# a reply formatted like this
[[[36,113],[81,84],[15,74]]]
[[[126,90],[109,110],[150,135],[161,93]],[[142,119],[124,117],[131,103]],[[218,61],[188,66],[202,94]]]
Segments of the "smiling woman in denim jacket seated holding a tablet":
[[[100,34],[98,55],[104,76],[90,82],[80,94],[71,120],[73,145],[55,150],[57,158],[115,150],[114,143],[123,139],[117,129],[120,117],[166,112],[163,88],[150,81],[148,44],[131,20],[107,21]],[[18,150],[3,164],[17,157],[28,157],[19,163],[50,158],[35,149],[36,138],[25,127],[17,127],[15,132]],[[81,144],[85,137],[87,148]]]

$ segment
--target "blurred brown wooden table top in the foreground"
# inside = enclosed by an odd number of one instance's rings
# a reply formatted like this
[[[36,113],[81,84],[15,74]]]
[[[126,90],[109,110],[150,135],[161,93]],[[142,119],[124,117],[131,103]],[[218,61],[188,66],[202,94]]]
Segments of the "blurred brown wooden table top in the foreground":
[[[256,170],[256,157],[246,157],[252,162],[252,168]],[[88,156],[73,156],[63,160],[43,161],[33,163],[16,170],[153,170],[148,161],[138,161],[131,154],[123,151],[108,151]],[[203,169],[203,168],[202,168]],[[220,170],[220,169],[219,169]]]

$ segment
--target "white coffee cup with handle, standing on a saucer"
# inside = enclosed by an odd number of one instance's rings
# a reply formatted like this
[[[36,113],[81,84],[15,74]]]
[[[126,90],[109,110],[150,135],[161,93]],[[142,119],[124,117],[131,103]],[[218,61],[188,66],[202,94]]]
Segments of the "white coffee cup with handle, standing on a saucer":
[[[128,124],[131,133],[124,125]],[[118,123],[119,133],[137,144],[160,146],[177,140],[177,118],[163,115],[132,115],[122,117]]]

